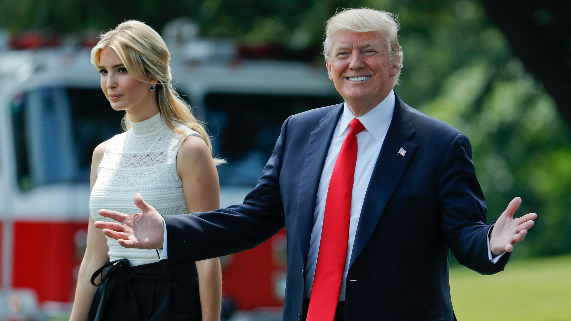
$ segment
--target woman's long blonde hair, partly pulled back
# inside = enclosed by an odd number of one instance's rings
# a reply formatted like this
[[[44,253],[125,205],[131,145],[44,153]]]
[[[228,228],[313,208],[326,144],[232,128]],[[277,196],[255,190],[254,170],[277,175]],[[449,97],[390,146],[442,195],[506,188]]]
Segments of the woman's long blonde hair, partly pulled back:
[[[145,23],[135,20],[125,21],[115,29],[100,34],[100,40],[91,49],[91,63],[99,66],[101,52],[106,48],[115,50],[128,73],[138,81],[151,83],[148,79],[158,79],[156,100],[164,122],[171,130],[184,135],[184,130],[173,125],[178,122],[200,134],[212,152],[210,137],[204,124],[192,115],[190,106],[180,98],[171,85],[170,53],[163,38]],[[124,130],[131,128],[129,115],[125,113],[122,121]],[[226,163],[214,158],[215,164]]]

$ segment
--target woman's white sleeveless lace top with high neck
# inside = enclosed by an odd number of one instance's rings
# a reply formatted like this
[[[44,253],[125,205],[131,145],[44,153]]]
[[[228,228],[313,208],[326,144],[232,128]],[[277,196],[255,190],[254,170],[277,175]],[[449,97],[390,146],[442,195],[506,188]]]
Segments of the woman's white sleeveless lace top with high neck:
[[[176,172],[176,153],[184,138],[200,135],[175,123],[186,132],[181,139],[180,134],[167,127],[160,113],[146,121],[131,122],[131,126],[107,144],[89,199],[91,217],[112,221],[97,213],[102,208],[124,214],[140,213],[133,203],[136,192],[162,215],[187,213],[182,181]],[[159,261],[155,250],[124,248],[108,237],[107,245],[111,261],[127,258],[131,266]]]

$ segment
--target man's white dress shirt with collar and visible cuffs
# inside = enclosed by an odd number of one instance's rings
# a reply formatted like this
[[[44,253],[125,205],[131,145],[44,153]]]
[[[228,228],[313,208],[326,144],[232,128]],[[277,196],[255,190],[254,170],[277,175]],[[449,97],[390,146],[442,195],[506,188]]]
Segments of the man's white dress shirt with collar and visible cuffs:
[[[341,290],[339,292],[339,300],[345,300],[345,282],[347,272],[349,270],[349,260],[353,252],[353,242],[355,242],[355,234],[357,232],[357,224],[361,216],[361,207],[365,200],[365,193],[369,186],[369,180],[373,174],[373,168],[379,157],[381,147],[389,126],[391,125],[393,110],[395,109],[395,93],[391,93],[379,105],[370,110],[361,117],[355,117],[351,110],[343,103],[343,114],[337,122],[335,133],[331,139],[327,157],[323,171],[321,171],[321,179],[317,188],[317,200],[315,204],[315,214],[313,215],[313,228],[311,230],[311,240],[309,242],[309,255],[307,258],[307,269],[305,279],[305,298],[309,299],[311,288],[313,286],[313,277],[315,276],[315,266],[317,263],[317,254],[319,254],[319,243],[321,241],[321,228],[323,227],[323,215],[325,213],[325,200],[327,199],[327,190],[329,188],[329,180],[335,166],[335,161],[341,150],[341,145],[345,137],[349,133],[349,122],[354,118],[359,118],[365,129],[357,134],[357,162],[355,164],[355,178],[353,180],[353,192],[351,198],[351,216],[349,220],[349,240],[347,243],[347,258],[345,259],[345,268],[343,271],[343,280],[341,282]],[[164,219],[163,219],[164,220]],[[164,240],[163,248],[160,253],[161,259],[168,258],[167,251],[167,228],[164,223]],[[159,251],[160,252],[160,251]],[[488,238],[488,258],[492,263],[496,263],[502,256],[498,255],[492,259]]]

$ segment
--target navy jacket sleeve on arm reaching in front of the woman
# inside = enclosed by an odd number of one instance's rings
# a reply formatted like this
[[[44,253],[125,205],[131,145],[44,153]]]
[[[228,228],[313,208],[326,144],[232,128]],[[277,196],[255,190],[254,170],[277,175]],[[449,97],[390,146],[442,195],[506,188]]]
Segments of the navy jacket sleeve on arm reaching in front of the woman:
[[[279,175],[289,118],[258,184],[243,204],[212,212],[165,215],[168,264],[216,258],[256,247],[285,226]]]

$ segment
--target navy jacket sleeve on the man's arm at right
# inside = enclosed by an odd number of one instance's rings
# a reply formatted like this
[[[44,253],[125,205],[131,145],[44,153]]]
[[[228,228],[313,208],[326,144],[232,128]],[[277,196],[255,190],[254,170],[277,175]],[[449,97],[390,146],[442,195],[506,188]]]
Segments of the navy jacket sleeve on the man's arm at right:
[[[495,264],[488,259],[486,204],[472,163],[472,146],[464,134],[450,145],[439,184],[441,229],[458,262],[480,274],[504,270],[511,253]]]

